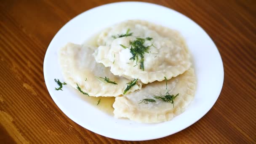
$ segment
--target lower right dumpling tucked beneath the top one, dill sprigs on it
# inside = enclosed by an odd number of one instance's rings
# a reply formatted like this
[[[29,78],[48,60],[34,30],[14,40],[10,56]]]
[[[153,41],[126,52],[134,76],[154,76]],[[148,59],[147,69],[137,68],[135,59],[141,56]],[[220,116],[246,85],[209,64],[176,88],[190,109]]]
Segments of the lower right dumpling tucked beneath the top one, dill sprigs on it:
[[[179,93],[174,99],[174,105],[154,98],[166,94],[165,84],[165,81],[149,83],[139,91],[116,97],[113,104],[115,117],[127,117],[141,123],[160,123],[181,114],[194,99],[196,87],[194,69],[190,68],[184,74],[167,80],[168,93],[174,96]],[[155,102],[144,103],[142,101],[144,99],[154,99]]]

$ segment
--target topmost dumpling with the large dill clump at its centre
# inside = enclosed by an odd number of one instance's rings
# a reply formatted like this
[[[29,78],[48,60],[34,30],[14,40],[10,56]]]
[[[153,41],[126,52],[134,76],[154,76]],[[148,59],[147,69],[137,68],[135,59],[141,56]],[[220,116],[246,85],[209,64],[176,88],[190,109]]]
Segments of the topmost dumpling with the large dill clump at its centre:
[[[110,71],[114,75],[138,78],[142,83],[147,84],[155,80],[162,81],[163,77],[167,79],[176,77],[191,66],[189,52],[179,32],[139,20],[125,21],[115,26],[117,28],[106,30],[110,34],[105,37],[104,34],[99,35],[98,43],[107,43],[107,45],[99,46],[94,54],[96,61],[104,64],[105,67],[111,67]],[[111,37],[127,29],[130,29],[128,33],[133,34],[115,39]],[[144,60],[140,53],[138,54],[141,49],[135,52],[131,50],[135,48],[132,43],[139,40],[144,47],[148,47],[143,52]],[[138,55],[132,59],[134,53]]]

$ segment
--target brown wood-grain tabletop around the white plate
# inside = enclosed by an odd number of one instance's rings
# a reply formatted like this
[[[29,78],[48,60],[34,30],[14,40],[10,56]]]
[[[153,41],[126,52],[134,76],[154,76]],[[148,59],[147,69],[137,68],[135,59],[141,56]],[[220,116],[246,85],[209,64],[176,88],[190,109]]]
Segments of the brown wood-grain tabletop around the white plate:
[[[0,143],[137,143],[86,130],[51,99],[43,77],[45,51],[70,19],[119,0],[0,1]],[[197,123],[162,139],[138,143],[256,143],[256,1],[144,0],[199,24],[224,63],[224,85]]]

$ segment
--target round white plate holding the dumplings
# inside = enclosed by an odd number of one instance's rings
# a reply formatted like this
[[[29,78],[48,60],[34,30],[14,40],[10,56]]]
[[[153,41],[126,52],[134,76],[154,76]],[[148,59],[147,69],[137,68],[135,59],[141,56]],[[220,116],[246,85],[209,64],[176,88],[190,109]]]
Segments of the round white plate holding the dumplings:
[[[64,86],[55,91],[55,78],[63,81],[57,50],[67,42],[82,44],[99,30],[128,19],[142,19],[177,29],[187,41],[197,76],[194,101],[173,120],[142,124],[116,119],[91,106],[77,96],[74,89]],[[151,3],[122,2],[101,5],[85,11],[65,24],[53,37],[44,60],[44,77],[48,91],[57,106],[75,123],[84,128],[120,140],[149,140],[179,132],[203,117],[219,97],[224,70],[218,49],[207,33],[194,21],[169,8]]]

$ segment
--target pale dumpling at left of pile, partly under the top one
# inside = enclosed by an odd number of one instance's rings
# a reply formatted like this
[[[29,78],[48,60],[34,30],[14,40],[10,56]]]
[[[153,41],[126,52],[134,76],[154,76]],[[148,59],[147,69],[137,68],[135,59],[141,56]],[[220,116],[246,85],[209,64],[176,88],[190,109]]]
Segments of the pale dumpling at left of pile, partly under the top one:
[[[93,57],[93,48],[85,45],[68,43],[59,50],[59,62],[65,82],[72,87],[81,88],[81,91],[89,96],[119,96],[123,94],[127,83],[131,80],[125,77],[113,75],[109,67],[96,63]],[[102,77],[102,78],[100,78]],[[105,81],[109,78],[109,82]],[[137,82],[128,92],[141,88],[141,83]]]

